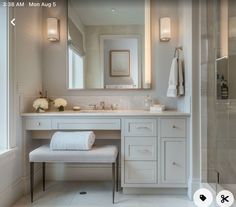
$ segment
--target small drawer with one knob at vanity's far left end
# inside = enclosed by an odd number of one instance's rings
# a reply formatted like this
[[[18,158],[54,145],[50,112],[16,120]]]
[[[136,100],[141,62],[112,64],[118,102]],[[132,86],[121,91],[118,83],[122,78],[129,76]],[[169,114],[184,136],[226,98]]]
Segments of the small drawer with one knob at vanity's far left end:
[[[26,130],[49,130],[51,128],[51,119],[27,118],[25,120]]]

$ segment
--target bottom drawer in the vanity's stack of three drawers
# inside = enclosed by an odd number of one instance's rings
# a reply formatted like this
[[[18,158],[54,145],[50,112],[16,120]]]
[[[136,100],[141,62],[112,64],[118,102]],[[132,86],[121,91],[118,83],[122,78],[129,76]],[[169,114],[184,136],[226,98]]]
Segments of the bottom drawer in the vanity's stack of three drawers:
[[[126,161],[125,183],[156,183],[156,166],[155,161]]]

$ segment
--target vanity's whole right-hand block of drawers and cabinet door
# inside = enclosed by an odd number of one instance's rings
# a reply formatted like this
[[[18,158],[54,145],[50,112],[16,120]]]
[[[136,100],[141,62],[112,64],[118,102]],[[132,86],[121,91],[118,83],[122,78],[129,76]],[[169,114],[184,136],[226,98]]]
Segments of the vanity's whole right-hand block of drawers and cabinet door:
[[[123,187],[187,187],[187,118],[126,119]]]

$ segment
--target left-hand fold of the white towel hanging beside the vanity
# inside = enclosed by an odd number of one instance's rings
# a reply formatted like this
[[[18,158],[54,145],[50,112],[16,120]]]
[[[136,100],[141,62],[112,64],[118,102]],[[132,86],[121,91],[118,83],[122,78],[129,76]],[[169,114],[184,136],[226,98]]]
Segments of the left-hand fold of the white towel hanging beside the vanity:
[[[167,97],[177,97],[178,95],[177,86],[178,86],[178,58],[174,57],[170,68]]]

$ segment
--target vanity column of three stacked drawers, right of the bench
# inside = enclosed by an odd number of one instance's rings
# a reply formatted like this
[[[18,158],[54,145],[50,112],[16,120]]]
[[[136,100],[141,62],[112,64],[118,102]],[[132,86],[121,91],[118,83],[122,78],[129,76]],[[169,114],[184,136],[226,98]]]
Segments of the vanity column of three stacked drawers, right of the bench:
[[[157,183],[157,120],[125,119],[124,182],[144,186]]]

